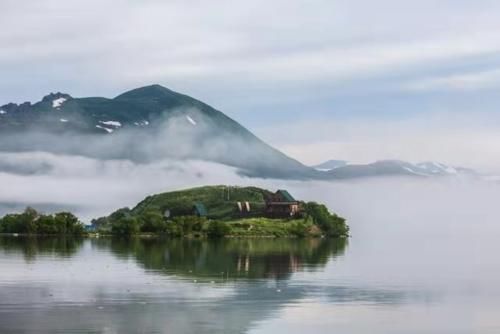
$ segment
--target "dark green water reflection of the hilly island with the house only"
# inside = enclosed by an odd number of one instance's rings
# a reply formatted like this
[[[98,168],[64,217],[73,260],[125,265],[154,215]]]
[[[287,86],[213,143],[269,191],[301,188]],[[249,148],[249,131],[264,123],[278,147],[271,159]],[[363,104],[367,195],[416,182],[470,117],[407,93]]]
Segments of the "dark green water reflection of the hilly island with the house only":
[[[120,258],[132,257],[145,269],[167,275],[217,281],[288,279],[294,272],[323,267],[342,255],[346,240],[97,239]]]

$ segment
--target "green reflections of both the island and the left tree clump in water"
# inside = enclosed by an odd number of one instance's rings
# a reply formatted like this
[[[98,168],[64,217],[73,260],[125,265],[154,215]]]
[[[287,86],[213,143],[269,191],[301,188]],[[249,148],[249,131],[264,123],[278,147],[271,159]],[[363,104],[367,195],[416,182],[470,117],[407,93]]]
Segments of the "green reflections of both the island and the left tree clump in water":
[[[144,239],[0,237],[0,249],[21,253],[27,262],[39,256],[71,258],[89,242],[118,259],[132,258],[148,272],[217,282],[290,278],[294,272],[324,267],[341,256],[346,239]]]

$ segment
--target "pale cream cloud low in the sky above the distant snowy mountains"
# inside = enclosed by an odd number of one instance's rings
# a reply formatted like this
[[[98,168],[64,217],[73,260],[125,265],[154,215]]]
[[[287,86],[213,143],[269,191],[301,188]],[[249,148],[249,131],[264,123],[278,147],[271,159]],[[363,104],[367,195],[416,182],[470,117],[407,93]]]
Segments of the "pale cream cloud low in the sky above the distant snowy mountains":
[[[315,119],[261,129],[259,135],[306,164],[329,159],[440,161],[500,171],[498,133],[488,113],[434,112],[410,119]]]

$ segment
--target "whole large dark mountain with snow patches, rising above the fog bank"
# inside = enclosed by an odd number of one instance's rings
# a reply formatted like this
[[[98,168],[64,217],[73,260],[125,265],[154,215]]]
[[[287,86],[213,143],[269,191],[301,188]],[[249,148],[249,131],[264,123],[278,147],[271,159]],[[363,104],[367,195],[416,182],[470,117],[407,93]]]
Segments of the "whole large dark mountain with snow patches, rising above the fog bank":
[[[307,179],[313,168],[286,156],[222,112],[160,85],[115,98],[51,93],[0,107],[0,151],[47,151],[147,162],[201,159],[247,176]]]

